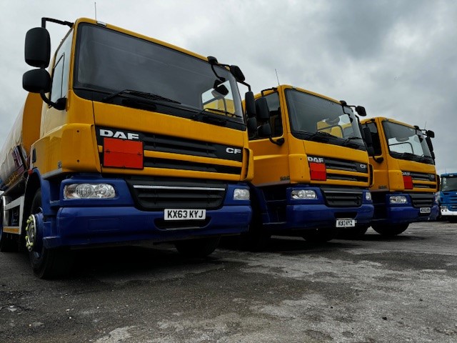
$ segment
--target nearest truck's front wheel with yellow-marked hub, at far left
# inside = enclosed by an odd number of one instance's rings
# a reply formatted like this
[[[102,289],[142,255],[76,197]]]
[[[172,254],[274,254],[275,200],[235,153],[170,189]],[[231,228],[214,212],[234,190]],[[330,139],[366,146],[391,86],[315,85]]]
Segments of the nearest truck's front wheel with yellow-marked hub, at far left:
[[[68,249],[48,249],[43,244],[43,213],[41,189],[36,191],[26,225],[26,247],[29,251],[31,269],[40,279],[64,277],[73,262]]]

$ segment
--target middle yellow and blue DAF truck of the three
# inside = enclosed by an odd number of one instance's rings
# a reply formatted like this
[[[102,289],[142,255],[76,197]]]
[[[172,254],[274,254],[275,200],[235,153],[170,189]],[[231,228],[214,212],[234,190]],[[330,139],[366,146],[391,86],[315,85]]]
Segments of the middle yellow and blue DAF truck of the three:
[[[245,241],[263,244],[283,234],[322,242],[340,229],[366,227],[373,217],[371,171],[351,106],[288,85],[255,97],[254,217]]]

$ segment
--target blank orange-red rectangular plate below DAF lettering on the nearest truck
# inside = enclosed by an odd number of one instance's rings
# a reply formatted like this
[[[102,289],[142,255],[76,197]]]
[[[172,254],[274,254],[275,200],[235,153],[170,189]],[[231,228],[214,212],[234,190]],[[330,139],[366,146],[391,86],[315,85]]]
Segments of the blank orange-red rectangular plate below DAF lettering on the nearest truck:
[[[143,169],[143,142],[104,138],[103,165],[114,168]]]

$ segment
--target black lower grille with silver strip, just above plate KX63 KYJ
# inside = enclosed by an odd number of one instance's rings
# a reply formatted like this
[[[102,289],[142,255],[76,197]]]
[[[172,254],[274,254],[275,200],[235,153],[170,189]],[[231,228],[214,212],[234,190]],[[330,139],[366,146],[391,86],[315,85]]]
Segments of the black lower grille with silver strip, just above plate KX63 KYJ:
[[[128,179],[136,207],[144,211],[164,209],[218,209],[226,196],[226,184],[174,179]]]

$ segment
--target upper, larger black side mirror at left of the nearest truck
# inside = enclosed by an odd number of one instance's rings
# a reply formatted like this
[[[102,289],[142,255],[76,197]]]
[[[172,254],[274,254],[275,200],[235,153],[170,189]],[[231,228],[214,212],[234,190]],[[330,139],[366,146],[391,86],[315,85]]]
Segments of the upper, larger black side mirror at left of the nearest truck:
[[[47,68],[51,59],[51,38],[48,30],[35,27],[26,33],[24,58],[29,66]]]

